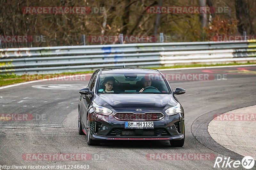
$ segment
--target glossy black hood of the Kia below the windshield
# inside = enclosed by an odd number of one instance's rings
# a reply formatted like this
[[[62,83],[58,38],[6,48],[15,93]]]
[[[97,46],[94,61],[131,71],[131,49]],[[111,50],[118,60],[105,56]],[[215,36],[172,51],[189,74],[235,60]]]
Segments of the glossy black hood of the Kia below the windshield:
[[[97,95],[96,95],[97,96]],[[112,108],[165,108],[177,104],[170,94],[101,94],[95,102]]]

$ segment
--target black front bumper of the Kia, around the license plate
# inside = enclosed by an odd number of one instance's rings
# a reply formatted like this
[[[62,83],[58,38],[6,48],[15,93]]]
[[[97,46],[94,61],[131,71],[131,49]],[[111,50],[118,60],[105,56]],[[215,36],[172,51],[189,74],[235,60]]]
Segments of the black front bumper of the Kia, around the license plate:
[[[185,126],[184,114],[182,113],[172,116],[164,113],[164,117],[161,120],[153,121],[154,129],[125,129],[126,121],[117,120],[113,117],[113,114],[103,116],[92,112],[89,118],[92,139],[180,140],[184,138]],[[134,120],[134,122],[136,121],[144,120]]]

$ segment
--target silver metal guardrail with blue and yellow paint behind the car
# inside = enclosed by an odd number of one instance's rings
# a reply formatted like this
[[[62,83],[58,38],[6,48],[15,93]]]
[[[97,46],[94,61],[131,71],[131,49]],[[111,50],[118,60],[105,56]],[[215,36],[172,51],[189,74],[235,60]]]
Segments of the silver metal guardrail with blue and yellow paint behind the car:
[[[0,74],[51,74],[107,67],[256,62],[256,40],[0,49]]]

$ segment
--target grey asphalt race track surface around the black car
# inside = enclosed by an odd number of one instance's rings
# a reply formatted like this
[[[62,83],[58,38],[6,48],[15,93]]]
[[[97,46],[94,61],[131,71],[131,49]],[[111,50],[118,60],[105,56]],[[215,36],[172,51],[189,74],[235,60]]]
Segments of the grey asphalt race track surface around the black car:
[[[77,128],[78,89],[86,87],[88,81],[42,81],[0,90],[1,114],[33,115],[32,120],[0,121],[0,165],[89,165],[89,169],[213,169],[217,156],[241,160],[243,156],[216,143],[209,136],[207,127],[216,114],[256,104],[256,67],[162,72],[210,74],[210,79],[213,79],[169,80],[173,90],[176,87],[187,90],[184,95],[177,95],[185,110],[186,138],[183,147],[171,147],[168,141],[104,141],[100,146],[88,146],[85,136],[79,135]],[[225,80],[216,80],[223,74]],[[63,161],[28,160],[24,157],[33,153],[86,153],[91,158]],[[150,153],[210,153],[214,158],[151,160],[147,157]],[[255,166],[253,168],[256,169]]]

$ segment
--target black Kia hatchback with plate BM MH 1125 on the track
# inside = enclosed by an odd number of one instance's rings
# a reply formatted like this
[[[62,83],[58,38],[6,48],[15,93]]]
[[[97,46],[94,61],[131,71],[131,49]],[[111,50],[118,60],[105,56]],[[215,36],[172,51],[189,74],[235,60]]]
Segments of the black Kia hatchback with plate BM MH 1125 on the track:
[[[78,130],[88,145],[100,140],[169,140],[183,146],[184,110],[164,75],[154,69],[96,70],[80,89]]]

